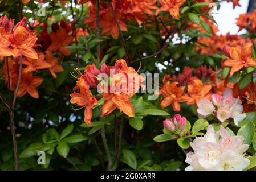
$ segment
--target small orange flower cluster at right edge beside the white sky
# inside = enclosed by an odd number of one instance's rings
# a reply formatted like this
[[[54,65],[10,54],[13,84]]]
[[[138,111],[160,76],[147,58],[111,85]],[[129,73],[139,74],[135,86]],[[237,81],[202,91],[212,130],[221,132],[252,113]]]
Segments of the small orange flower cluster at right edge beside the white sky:
[[[237,18],[237,26],[239,31],[245,28],[252,34],[256,32],[256,10],[252,13],[240,14],[239,18]]]

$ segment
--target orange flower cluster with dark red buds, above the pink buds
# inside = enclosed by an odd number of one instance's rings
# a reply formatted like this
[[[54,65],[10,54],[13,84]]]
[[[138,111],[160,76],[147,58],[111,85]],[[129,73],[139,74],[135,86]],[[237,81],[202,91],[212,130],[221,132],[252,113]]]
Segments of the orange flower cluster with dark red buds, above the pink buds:
[[[210,100],[212,95],[210,82],[215,80],[216,74],[212,69],[207,69],[206,66],[197,68],[195,76],[192,75],[193,70],[193,68],[186,67],[178,77],[173,75],[172,79],[169,75],[164,76],[163,85],[159,92],[164,96],[160,104],[162,108],[172,105],[173,110],[178,112],[180,111],[180,102],[191,105],[204,97]],[[203,84],[201,80],[207,83]]]

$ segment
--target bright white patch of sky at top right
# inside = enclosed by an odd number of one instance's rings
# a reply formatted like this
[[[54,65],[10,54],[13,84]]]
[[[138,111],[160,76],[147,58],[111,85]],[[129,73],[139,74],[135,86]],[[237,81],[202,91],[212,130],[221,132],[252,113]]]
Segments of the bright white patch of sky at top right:
[[[237,22],[235,18],[238,18],[239,14],[247,12],[249,0],[240,0],[239,3],[241,7],[237,6],[233,10],[233,3],[226,1],[221,2],[220,10],[217,11],[215,7],[215,10],[212,11],[213,18],[216,20],[222,35],[228,32],[230,32],[230,34],[237,34],[239,28],[235,25]],[[239,34],[244,32],[245,31],[241,31]]]

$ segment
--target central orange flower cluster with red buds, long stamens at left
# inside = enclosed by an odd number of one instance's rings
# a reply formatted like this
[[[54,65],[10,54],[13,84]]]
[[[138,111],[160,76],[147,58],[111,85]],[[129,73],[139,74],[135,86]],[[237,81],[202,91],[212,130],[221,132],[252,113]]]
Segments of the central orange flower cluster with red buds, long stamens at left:
[[[87,65],[84,74],[78,71],[80,77],[71,96],[71,103],[85,107],[84,122],[91,125],[92,109],[99,105],[97,99],[100,96],[92,96],[91,89],[100,90],[104,98],[101,117],[119,109],[129,117],[134,117],[135,110],[129,100],[139,89],[144,78],[135,69],[128,67],[125,60],[117,60],[113,67],[107,67],[104,63],[100,70],[95,65]],[[99,86],[98,86],[99,85]],[[79,92],[76,90],[79,89]]]

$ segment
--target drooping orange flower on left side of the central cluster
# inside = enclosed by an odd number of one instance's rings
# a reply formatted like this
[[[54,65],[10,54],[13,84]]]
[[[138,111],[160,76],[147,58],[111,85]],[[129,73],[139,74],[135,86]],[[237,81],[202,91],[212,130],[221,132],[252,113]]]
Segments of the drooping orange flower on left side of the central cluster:
[[[91,126],[92,108],[96,105],[99,105],[99,102],[97,102],[96,98],[92,96],[92,93],[89,90],[89,86],[86,84],[86,81],[83,78],[79,78],[79,80],[76,82],[76,85],[77,86],[75,89],[79,88],[80,93],[70,94],[72,97],[70,102],[72,104],[85,107],[84,122]]]

